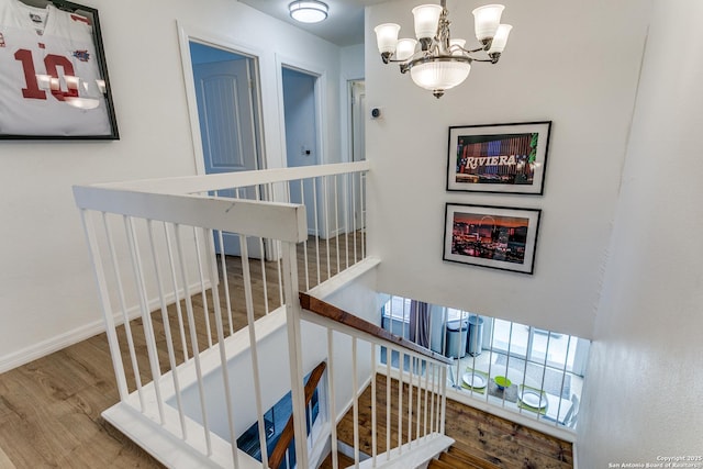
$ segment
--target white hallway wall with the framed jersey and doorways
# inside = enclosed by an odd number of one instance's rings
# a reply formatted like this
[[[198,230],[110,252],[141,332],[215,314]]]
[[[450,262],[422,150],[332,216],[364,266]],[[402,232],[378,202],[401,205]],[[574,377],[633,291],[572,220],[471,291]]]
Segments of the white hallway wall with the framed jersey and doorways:
[[[0,142],[0,371],[102,328],[70,188],[196,174],[177,21],[259,57],[266,154],[281,166],[283,60],[324,71],[324,152],[339,158],[339,47],[226,0],[94,0],[121,139]]]

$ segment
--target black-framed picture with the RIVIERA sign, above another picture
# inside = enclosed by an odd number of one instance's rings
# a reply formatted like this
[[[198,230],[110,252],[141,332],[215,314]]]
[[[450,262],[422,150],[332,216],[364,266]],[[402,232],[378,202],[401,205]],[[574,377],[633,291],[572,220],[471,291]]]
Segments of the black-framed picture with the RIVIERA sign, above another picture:
[[[449,127],[447,191],[542,196],[551,121]]]

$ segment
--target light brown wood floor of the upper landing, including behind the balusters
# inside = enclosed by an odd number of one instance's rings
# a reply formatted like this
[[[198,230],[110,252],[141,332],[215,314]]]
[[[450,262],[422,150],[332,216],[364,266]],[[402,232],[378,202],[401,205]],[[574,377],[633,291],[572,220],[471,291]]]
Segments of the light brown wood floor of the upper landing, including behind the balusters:
[[[357,258],[361,258],[361,233],[344,235],[316,242],[310,237],[306,243],[309,281],[304,276],[305,255],[303,245],[299,245],[298,263],[301,267],[300,288],[317,284],[317,279],[326,280],[338,268],[344,269],[354,263],[356,242]],[[338,248],[337,248],[338,246]],[[316,253],[320,253],[320,268]],[[330,256],[327,256],[330,253]],[[337,253],[339,263],[337,264]],[[348,253],[348,254],[347,254]],[[348,257],[347,257],[348,256]],[[327,258],[330,263],[327,263]],[[233,305],[232,328],[237,331],[246,325],[244,290],[242,288],[242,261],[238,257],[227,257],[227,277],[231,286]],[[264,280],[261,263],[249,261],[253,279],[255,316],[261,317],[264,306]],[[266,295],[269,310],[280,305],[280,290],[277,263],[265,263]],[[92,284],[88,288],[94,288]],[[89,292],[87,294],[92,294]],[[221,289],[221,297],[224,289]],[[211,337],[216,342],[212,295],[205,295],[210,305],[209,319]],[[203,299],[192,298],[197,322],[199,348],[208,346],[208,333],[204,327]],[[220,303],[224,308],[224,298]],[[185,311],[185,302],[181,301]],[[164,319],[160,312],[153,314],[155,335],[158,344],[161,370],[168,368],[168,355]],[[168,308],[170,331],[178,362],[183,360],[183,347],[178,335],[178,320],[175,305]],[[143,383],[149,382],[150,372],[141,320],[132,321],[140,376]],[[230,328],[228,317],[224,317],[225,330]],[[124,327],[118,327],[122,359],[130,368]],[[192,355],[190,337],[187,349]],[[133,373],[126,373],[130,391],[136,389]],[[161,467],[148,454],[126,438],[100,413],[119,401],[118,388],[110,358],[105,334],[100,334],[70,347],[64,348],[44,358],[0,375],[0,469],[24,468],[156,468]]]

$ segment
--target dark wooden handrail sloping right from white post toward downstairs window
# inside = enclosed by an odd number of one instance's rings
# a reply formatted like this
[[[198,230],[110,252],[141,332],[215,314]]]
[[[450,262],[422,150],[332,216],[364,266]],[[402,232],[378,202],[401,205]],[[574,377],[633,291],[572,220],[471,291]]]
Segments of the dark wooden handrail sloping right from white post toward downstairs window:
[[[439,361],[442,364],[451,365],[454,362],[453,359],[447,358],[444,355],[432,351],[428,348],[420,346],[414,342],[410,342],[408,339],[399,337],[395,334],[391,334],[390,332],[377,326],[376,324],[369,323],[368,321],[355,316],[352,313],[347,313],[346,311],[341,310],[337,306],[326,303],[320,299],[311,297],[308,293],[303,293],[301,291],[298,294],[298,298],[300,299],[300,305],[302,306],[302,309],[308,310],[311,313],[315,313],[320,316],[326,317],[339,324],[344,324],[362,333],[370,334],[377,338],[390,342],[402,348],[409,349],[411,351],[414,351],[415,354]]]

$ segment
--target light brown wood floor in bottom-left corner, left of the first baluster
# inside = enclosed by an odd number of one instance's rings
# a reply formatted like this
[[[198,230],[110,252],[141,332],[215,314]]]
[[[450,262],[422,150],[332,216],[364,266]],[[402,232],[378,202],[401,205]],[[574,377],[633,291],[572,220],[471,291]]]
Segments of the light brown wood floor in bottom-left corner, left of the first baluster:
[[[101,334],[0,375],[0,447],[18,469],[161,467],[100,416],[116,402]]]

